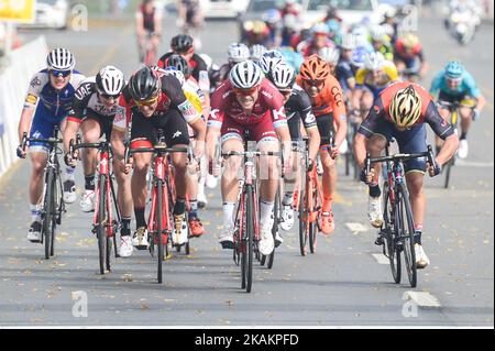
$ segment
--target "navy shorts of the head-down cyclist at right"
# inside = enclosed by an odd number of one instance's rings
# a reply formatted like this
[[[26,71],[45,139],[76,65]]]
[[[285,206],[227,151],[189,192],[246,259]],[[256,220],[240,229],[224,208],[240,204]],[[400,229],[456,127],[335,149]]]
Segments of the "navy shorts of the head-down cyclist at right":
[[[376,134],[385,136],[388,142],[391,142],[392,139],[395,139],[397,141],[397,145],[399,147],[400,153],[416,154],[426,152],[428,150],[427,130],[425,123],[413,127],[411,129],[406,130],[404,132],[400,132],[394,127],[393,123],[386,120],[382,120],[377,125],[375,135]],[[426,169],[427,169],[426,157],[409,160],[404,163],[404,171],[406,173],[419,172],[425,174]]]

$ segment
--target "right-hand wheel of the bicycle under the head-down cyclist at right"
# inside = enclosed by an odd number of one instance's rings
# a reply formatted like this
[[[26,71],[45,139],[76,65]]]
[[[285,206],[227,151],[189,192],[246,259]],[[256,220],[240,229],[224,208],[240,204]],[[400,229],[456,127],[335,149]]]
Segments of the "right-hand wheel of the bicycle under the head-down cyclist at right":
[[[413,219],[413,210],[409,204],[409,194],[406,186],[403,184],[398,188],[399,201],[399,228],[400,228],[400,240],[404,246],[404,261],[406,262],[406,272],[409,278],[411,287],[417,286],[418,272],[416,268],[416,253],[415,253],[415,223]],[[407,221],[407,223],[404,222]]]

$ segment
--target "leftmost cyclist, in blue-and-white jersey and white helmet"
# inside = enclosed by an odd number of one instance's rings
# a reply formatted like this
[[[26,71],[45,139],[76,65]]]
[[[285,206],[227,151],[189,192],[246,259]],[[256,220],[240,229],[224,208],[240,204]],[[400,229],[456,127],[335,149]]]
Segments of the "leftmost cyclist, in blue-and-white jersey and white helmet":
[[[19,139],[24,133],[30,138],[48,139],[53,136],[55,125],[64,131],[75,92],[85,79],[74,70],[76,61],[66,48],[53,50],[46,59],[47,68],[34,75],[28,89],[28,96],[19,122]],[[47,162],[50,146],[44,143],[30,143],[30,155],[33,171],[30,178],[30,201],[32,223],[28,234],[31,242],[41,242],[43,175]],[[26,153],[18,146],[18,156],[25,158]],[[67,166],[64,174],[64,201],[76,200],[74,168]]]

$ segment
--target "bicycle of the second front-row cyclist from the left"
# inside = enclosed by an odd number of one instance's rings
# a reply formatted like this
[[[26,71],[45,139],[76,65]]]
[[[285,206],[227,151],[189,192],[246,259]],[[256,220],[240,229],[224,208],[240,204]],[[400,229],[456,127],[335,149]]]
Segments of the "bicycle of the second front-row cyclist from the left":
[[[103,275],[106,271],[111,271],[111,251],[112,240],[116,259],[119,257],[117,250],[117,232],[120,229],[121,215],[119,202],[117,200],[117,193],[113,186],[113,173],[110,171],[110,163],[112,160],[112,147],[110,142],[102,141],[98,143],[82,143],[80,135],[77,135],[76,142],[70,140],[69,153],[74,160],[78,158],[77,151],[80,149],[97,149],[98,150],[98,166],[97,166],[97,184],[95,188],[95,215],[92,218],[92,230],[98,239],[100,274]],[[117,219],[112,216],[112,208],[116,211]]]

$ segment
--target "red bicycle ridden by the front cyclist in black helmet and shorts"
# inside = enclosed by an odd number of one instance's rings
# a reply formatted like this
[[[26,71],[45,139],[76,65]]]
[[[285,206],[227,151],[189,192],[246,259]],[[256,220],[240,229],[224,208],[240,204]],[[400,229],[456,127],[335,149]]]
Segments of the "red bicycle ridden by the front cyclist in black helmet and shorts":
[[[167,155],[170,153],[188,153],[187,147],[167,147],[165,144],[158,143],[153,147],[139,147],[134,150],[125,149],[125,163],[136,153],[153,153],[153,187],[152,187],[152,205],[148,219],[148,232],[152,240],[150,240],[150,253],[154,257],[155,245],[158,248],[157,256],[157,281],[163,283],[163,261],[168,256],[168,242],[173,233],[173,208],[175,191],[172,188],[170,168]],[[170,240],[172,241],[172,240]],[[174,245],[174,243],[172,243]],[[187,243],[188,244],[188,243]],[[186,248],[188,251],[188,249]],[[165,255],[166,251],[166,255]]]

